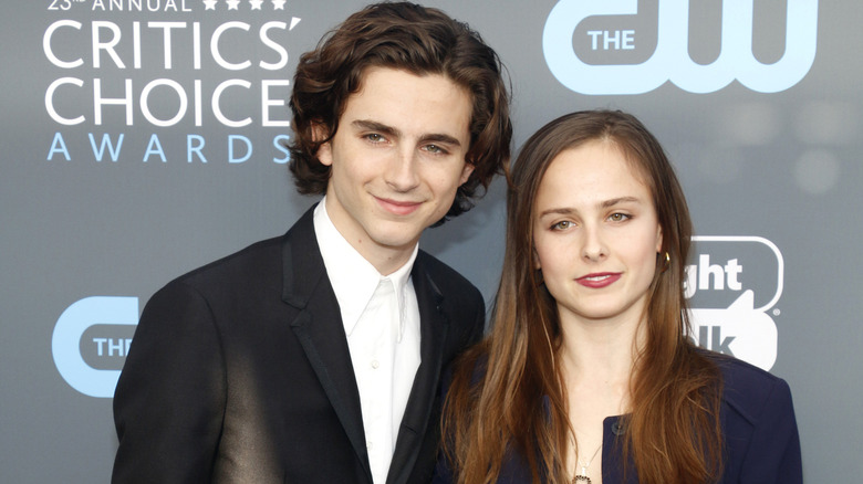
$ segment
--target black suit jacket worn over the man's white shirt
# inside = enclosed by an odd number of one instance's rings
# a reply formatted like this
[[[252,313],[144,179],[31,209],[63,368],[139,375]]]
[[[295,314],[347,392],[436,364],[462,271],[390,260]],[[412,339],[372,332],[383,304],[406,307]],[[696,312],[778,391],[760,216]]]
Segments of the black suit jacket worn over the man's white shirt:
[[[387,484],[430,480],[443,369],[481,335],[482,297],[420,251],[420,357]],[[288,233],[147,303],[114,396],[114,483],[372,483],[339,303],[312,210]]]

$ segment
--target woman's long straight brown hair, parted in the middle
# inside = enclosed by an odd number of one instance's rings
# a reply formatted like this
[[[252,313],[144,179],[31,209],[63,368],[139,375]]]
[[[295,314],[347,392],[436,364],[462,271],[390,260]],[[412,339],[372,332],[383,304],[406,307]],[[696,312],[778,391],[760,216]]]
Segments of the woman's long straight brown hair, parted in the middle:
[[[710,483],[720,475],[721,377],[687,337],[683,282],[693,230],[683,189],[659,143],[635,117],[592,111],[542,127],[513,166],[491,330],[460,359],[444,409],[445,452],[459,484],[496,482],[502,461],[513,455],[523,459],[534,483],[568,482],[568,398],[555,362],[561,330],[557,304],[534,269],[533,206],[554,158],[600,139],[620,148],[651,189],[663,233],[645,344],[631,376],[632,408],[615,444],[623,462],[634,464],[625,472],[642,484]]]

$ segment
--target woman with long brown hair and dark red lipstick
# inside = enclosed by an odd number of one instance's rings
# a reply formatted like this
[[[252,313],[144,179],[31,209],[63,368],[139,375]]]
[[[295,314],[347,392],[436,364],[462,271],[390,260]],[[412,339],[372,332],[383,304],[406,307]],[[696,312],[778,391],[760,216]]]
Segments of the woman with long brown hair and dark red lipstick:
[[[512,179],[492,328],[454,372],[436,482],[802,482],[786,382],[687,337],[692,222],[644,126],[558,118]]]

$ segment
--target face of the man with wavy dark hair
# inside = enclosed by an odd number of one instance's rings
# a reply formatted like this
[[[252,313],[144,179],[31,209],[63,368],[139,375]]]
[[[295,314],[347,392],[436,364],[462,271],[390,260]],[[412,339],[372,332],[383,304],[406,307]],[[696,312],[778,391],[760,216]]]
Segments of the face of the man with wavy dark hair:
[[[326,211],[382,274],[407,261],[474,170],[465,162],[470,113],[469,93],[443,75],[370,67],[321,146],[332,169]]]

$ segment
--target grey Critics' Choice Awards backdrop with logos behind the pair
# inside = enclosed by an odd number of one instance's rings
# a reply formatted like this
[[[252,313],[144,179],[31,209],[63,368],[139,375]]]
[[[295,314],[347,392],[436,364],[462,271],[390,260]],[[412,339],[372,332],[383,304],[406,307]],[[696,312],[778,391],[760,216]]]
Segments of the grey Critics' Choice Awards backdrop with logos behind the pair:
[[[15,0],[0,29],[0,482],[100,483],[112,394],[163,284],[283,233],[295,63],[363,1]],[[512,84],[518,148],[637,115],[696,222],[701,346],[791,385],[808,480],[863,465],[863,3],[432,0]],[[505,186],[422,245],[493,298]]]

